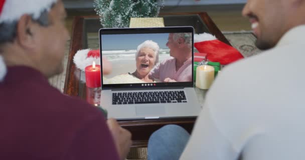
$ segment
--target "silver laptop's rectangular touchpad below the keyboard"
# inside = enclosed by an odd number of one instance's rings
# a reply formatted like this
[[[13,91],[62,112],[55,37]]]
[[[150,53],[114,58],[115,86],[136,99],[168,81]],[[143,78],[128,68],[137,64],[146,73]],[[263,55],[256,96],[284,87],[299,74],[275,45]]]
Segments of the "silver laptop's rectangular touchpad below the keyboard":
[[[155,115],[160,116],[165,114],[165,107],[163,105],[146,104],[144,106],[136,106],[136,115]]]

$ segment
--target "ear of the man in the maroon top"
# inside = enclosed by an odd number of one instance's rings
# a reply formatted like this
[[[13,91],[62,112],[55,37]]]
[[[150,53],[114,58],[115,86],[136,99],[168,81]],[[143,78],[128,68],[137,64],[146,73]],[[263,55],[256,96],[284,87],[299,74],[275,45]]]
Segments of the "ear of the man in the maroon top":
[[[35,47],[35,23],[28,14],[21,16],[16,28],[16,40],[25,48]]]

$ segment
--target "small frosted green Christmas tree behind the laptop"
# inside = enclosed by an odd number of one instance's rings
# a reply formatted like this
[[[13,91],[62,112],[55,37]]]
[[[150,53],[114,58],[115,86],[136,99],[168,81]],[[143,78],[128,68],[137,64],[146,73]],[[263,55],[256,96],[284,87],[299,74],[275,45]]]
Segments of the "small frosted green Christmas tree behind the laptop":
[[[94,0],[103,27],[128,27],[130,17],[157,17],[164,0]]]

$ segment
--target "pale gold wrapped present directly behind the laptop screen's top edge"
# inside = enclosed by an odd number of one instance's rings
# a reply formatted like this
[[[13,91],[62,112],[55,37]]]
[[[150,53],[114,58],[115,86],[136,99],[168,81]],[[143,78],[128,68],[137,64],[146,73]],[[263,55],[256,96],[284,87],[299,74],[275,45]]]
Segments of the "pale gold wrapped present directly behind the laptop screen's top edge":
[[[138,27],[164,27],[163,17],[130,18],[130,28]]]

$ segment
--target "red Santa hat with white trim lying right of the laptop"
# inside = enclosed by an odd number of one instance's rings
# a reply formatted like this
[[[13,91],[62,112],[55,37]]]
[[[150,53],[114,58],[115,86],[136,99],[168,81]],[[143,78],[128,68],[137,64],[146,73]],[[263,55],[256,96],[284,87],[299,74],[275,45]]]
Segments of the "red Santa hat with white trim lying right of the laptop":
[[[209,33],[195,34],[194,46],[201,53],[207,53],[207,59],[221,64],[229,64],[243,58],[234,47],[218,40]]]

